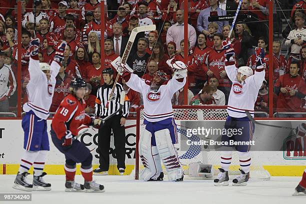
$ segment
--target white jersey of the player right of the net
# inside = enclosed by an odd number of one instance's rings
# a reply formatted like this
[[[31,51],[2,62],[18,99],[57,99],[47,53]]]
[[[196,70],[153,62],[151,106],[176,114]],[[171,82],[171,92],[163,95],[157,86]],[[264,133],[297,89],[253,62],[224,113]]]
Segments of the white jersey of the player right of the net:
[[[254,104],[259,88],[264,80],[264,70],[255,71],[243,83],[237,80],[238,69],[235,65],[225,66],[225,71],[232,85],[229,93],[227,112],[232,117],[245,117],[245,110],[254,116]]]

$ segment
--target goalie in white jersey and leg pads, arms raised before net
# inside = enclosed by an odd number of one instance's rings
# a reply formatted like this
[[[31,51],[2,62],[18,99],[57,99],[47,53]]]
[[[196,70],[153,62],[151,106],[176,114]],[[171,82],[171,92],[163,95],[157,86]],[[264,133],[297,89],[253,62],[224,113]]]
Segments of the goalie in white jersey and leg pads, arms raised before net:
[[[186,82],[186,65],[175,60],[168,60],[167,63],[174,70],[170,80],[162,71],[156,71],[152,81],[149,81],[133,74],[127,64],[121,64],[122,72],[120,66],[115,66],[126,85],[143,97],[145,129],[139,141],[139,156],[144,166],[141,177],[145,181],[162,180],[160,160],[165,166],[168,180],[183,179],[183,170],[173,147],[173,143],[177,143],[177,128],[171,98]]]

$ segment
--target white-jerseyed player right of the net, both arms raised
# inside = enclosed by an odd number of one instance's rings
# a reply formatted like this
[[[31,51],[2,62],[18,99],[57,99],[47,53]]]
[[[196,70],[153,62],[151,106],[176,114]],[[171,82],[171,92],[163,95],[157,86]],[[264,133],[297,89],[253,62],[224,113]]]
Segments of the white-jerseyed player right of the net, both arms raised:
[[[248,66],[235,66],[234,50],[231,44],[223,41],[225,49],[225,71],[232,85],[229,93],[227,112],[224,128],[236,129],[237,134],[222,135],[221,140],[227,141],[250,141],[254,133],[254,123],[251,122],[245,110],[254,115],[254,104],[259,88],[264,80],[264,51],[256,48],[256,70],[253,71]],[[240,130],[240,131],[239,131]],[[226,131],[227,132],[227,131]],[[228,145],[229,146],[229,145]],[[232,145],[238,152],[241,174],[232,180],[232,185],[246,185],[249,178],[249,169],[251,164],[250,145]],[[221,167],[217,178],[213,180],[214,185],[228,185],[228,168],[231,163],[231,151],[221,151]]]

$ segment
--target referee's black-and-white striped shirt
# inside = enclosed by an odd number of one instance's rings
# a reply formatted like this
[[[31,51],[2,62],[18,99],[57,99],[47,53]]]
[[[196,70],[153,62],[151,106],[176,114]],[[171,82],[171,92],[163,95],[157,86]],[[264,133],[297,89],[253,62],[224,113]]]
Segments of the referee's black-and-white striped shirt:
[[[124,89],[121,84],[116,83],[115,90],[113,91],[113,96],[109,100],[108,108],[105,109],[109,93],[111,92],[112,84],[102,84],[97,92],[96,92],[96,101],[95,101],[95,115],[99,117],[105,117],[113,112],[115,112],[120,106],[120,92]],[[125,95],[125,101],[123,104],[123,108],[121,111],[117,112],[116,114],[121,114],[122,117],[127,117],[129,110],[129,100]]]

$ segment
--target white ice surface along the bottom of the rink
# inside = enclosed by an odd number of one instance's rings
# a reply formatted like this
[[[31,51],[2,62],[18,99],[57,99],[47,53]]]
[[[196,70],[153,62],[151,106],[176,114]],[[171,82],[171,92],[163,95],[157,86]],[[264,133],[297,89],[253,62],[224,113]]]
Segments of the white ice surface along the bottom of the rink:
[[[27,193],[13,189],[15,175],[0,175],[0,193]],[[32,175],[27,176],[28,181]],[[105,192],[64,192],[64,175],[46,175],[52,184],[51,191],[32,191],[31,202],[9,201],[0,203],[84,203],[84,204],[272,204],[306,203],[306,196],[292,196],[300,177],[271,177],[270,180],[251,180],[246,186],[213,186],[212,180],[184,180],[181,182],[133,180],[129,176],[94,175],[103,184]],[[83,182],[76,175],[77,182]],[[231,181],[230,181],[231,184]]]

